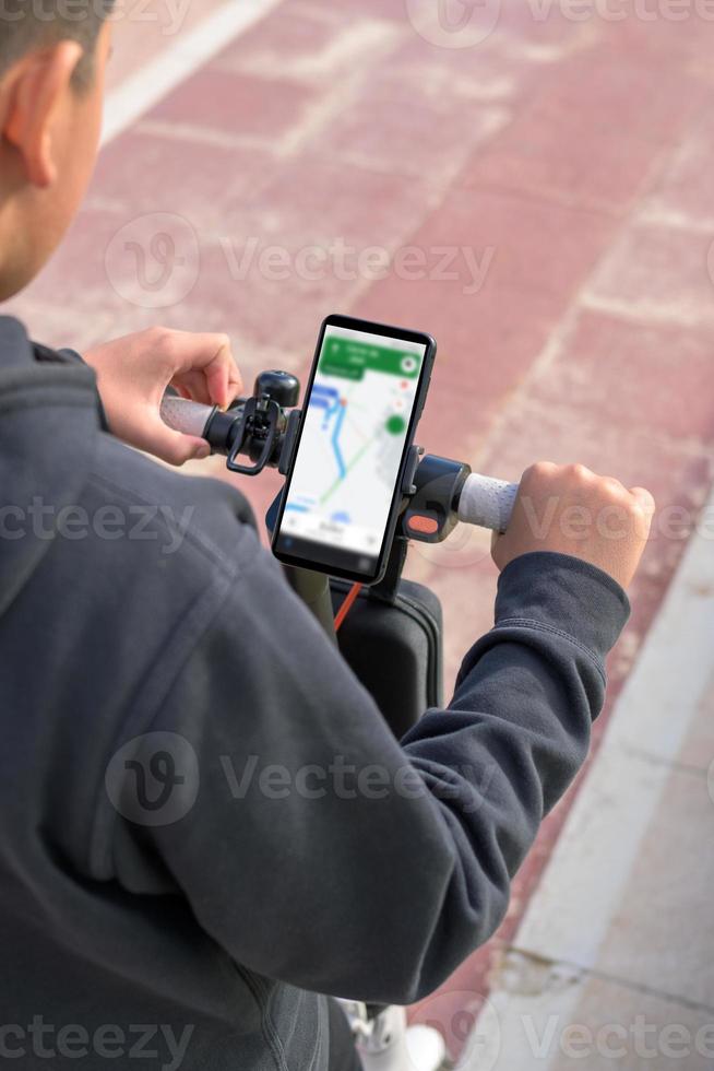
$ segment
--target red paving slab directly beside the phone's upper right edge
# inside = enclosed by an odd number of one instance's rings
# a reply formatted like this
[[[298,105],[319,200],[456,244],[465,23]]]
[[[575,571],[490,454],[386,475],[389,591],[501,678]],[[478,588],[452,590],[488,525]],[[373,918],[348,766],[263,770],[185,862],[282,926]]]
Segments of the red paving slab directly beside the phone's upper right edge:
[[[615,233],[604,215],[510,193],[454,190],[409,245],[421,279],[403,271],[372,287],[360,316],[419,322],[438,340],[421,425],[431,449],[476,460],[488,428],[546,344]],[[473,257],[465,259],[467,248]],[[449,257],[449,263],[444,260]],[[444,274],[455,279],[443,279]],[[468,293],[481,283],[477,293]]]

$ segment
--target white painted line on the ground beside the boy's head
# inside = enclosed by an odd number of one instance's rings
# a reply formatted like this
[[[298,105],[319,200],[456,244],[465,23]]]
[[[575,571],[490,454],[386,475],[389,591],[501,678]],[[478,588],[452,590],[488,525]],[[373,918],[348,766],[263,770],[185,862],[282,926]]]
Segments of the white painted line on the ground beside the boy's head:
[[[174,45],[112,90],[102,143],[120,134],[216,52],[260,22],[282,0],[228,0]]]

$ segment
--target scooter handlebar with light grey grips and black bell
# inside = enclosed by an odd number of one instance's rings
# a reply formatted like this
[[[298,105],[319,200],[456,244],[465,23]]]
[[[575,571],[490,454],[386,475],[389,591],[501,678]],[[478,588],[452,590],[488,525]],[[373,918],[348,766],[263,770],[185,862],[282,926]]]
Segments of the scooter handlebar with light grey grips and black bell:
[[[227,412],[167,395],[162,402],[162,417],[177,432],[205,438],[214,454],[228,457],[228,468],[234,471],[255,475],[270,466],[285,474],[299,422],[298,410],[287,413],[286,408],[297,403],[298,393],[295,377],[263,373],[255,381],[254,396],[239,399]],[[239,454],[250,457],[252,466],[238,464]],[[408,481],[412,487],[405,489],[407,498],[414,495],[405,523],[410,538],[438,542],[456,520],[505,531],[517,484],[479,475],[471,472],[468,466],[442,458],[419,458],[418,452],[414,461]]]

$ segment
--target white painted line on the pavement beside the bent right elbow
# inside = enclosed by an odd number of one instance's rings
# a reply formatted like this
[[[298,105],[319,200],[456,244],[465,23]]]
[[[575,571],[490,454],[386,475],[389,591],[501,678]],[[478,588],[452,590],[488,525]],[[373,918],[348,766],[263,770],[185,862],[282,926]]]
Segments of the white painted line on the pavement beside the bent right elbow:
[[[713,510],[714,496],[704,515],[712,517]],[[551,969],[556,975],[572,969],[575,976],[579,970],[597,972],[673,764],[711,688],[713,638],[714,548],[711,538],[698,533],[617,699],[602,748],[513,939],[514,962],[517,953],[527,957],[519,969],[537,974],[543,964],[545,988],[540,991],[538,982],[527,999],[525,989],[520,996],[522,982],[516,979],[512,989],[508,965],[496,980],[491,1000],[505,1033],[513,1034],[517,1025],[510,1016],[526,1011],[540,1015],[555,1010],[563,1019],[576,996],[570,984],[562,992],[557,985],[548,991]],[[487,1022],[479,1021],[474,1037],[485,1033]],[[498,1041],[481,1037],[481,1058],[484,1046],[498,1049]],[[460,1066],[475,1071],[481,1064],[467,1047]],[[543,1063],[543,1071],[548,1066]],[[498,1067],[496,1058],[490,1067]]]

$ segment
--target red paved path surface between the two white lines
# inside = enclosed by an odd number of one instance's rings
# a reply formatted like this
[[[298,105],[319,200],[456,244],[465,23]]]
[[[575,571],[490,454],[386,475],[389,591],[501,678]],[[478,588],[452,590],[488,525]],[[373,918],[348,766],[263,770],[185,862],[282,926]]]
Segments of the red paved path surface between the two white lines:
[[[414,8],[291,0],[226,43],[105,150],[87,210],[17,311],[49,342],[71,341],[63,309],[78,293],[83,339],[87,323],[228,330],[247,380],[266,365],[307,369],[334,309],[421,327],[440,343],[419,432],[429,449],[509,479],[539,457],[583,460],[691,521],[713,475],[714,24],[575,21],[559,4],[487,0],[473,5],[477,44],[439,47],[409,22]],[[162,270],[156,234],[179,255],[198,248],[192,285],[177,269],[162,308],[121,256],[122,228],[152,214],[160,224],[139,232],[146,271]],[[284,248],[286,279],[231,272],[226,240],[240,254],[250,238]],[[306,247],[337,239],[396,260],[380,279],[340,279],[332,261],[318,279],[296,269]],[[481,264],[491,250],[480,287],[465,292],[463,260],[456,278],[435,278],[444,246]],[[415,249],[426,278],[396,267]],[[277,482],[248,486],[259,513]],[[658,533],[647,550],[608,710],[683,546]],[[408,572],[444,602],[451,681],[490,624],[488,538],[415,548]],[[606,723],[607,710],[595,746]],[[497,937],[415,1011],[444,1026],[453,1052],[576,791],[546,822]]]

